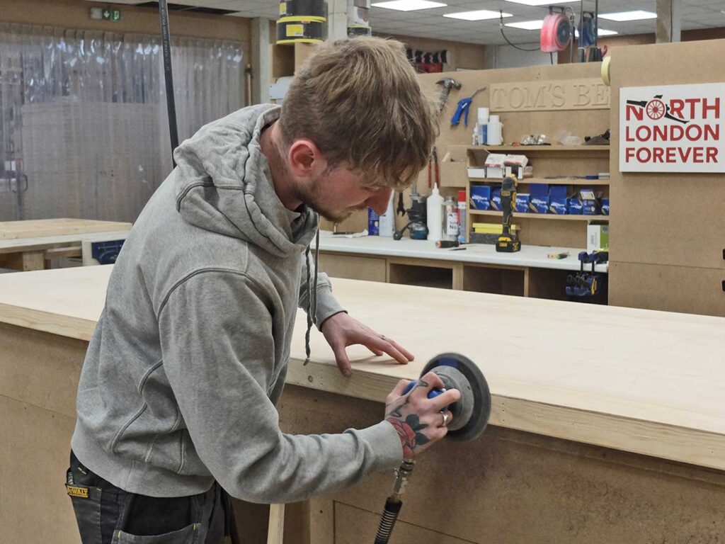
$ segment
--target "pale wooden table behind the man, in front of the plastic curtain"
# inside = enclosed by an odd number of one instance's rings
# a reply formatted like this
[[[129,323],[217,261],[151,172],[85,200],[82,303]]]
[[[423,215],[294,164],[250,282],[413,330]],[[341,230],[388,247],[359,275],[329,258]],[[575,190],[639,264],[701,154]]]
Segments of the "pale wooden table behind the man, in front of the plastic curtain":
[[[51,259],[80,257],[84,241],[125,239],[131,223],[88,219],[38,219],[0,222],[0,268],[49,268]]]

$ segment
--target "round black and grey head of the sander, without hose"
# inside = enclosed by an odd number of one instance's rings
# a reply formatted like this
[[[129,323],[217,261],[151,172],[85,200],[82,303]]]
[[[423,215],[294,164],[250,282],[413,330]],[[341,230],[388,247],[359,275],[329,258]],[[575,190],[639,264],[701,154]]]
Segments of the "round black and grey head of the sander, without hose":
[[[481,369],[464,355],[442,353],[428,362],[421,377],[430,371],[439,375],[447,389],[454,387],[461,393],[461,400],[449,407],[453,420],[446,436],[462,441],[481,436],[491,416],[491,392]]]

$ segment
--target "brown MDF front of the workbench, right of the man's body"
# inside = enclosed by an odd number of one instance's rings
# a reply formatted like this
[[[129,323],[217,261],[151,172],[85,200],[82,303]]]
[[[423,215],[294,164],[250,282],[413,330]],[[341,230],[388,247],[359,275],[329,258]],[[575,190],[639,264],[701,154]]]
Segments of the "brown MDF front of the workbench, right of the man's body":
[[[342,432],[380,421],[383,405],[287,387],[280,413],[288,432]],[[381,511],[392,482],[392,471],[381,472],[326,496],[334,501],[336,539],[351,534],[341,522],[373,534],[377,516],[364,512]],[[413,527],[481,544],[704,544],[725,531],[721,471],[495,426],[476,442],[444,441],[419,456],[404,500],[400,543],[413,542]],[[339,512],[341,503],[357,511]],[[313,534],[318,517],[330,527],[328,509],[310,511]],[[371,541],[363,536],[334,542]]]

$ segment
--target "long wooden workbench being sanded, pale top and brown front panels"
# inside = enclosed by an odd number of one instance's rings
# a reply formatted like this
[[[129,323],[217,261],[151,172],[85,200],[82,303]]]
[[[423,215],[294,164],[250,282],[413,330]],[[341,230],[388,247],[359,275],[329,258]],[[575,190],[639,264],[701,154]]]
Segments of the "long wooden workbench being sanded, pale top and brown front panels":
[[[109,271],[0,277],[0,436],[9,439],[0,542],[77,544],[62,478]],[[362,281],[334,288],[353,316],[417,359],[399,366],[352,347],[357,363],[344,379],[313,333],[302,366],[300,316],[283,429],[379,421],[394,383],[443,351],[479,363],[494,395],[481,440],[421,456],[395,543],[714,543],[725,534],[725,319]],[[391,483],[377,474],[312,500],[309,541],[371,543]]]

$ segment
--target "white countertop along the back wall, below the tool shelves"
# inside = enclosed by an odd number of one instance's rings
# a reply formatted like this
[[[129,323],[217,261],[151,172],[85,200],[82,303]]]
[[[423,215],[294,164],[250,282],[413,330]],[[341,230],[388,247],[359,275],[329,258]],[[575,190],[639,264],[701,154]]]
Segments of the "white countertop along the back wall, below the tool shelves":
[[[314,245],[313,245],[314,247]],[[376,255],[379,257],[411,257],[418,259],[452,260],[461,263],[500,264],[508,266],[531,266],[534,268],[555,268],[558,270],[579,270],[576,258],[584,248],[529,246],[522,244],[521,251],[515,253],[497,253],[494,244],[465,244],[465,250],[452,251],[435,247],[428,240],[411,240],[404,237],[394,240],[386,236],[363,236],[348,238],[333,235],[331,231],[320,231],[320,251],[334,253],[355,253]],[[549,253],[569,252],[563,259],[550,259]],[[592,265],[584,265],[585,271],[591,271]],[[606,273],[609,264],[597,265],[596,271]]]

